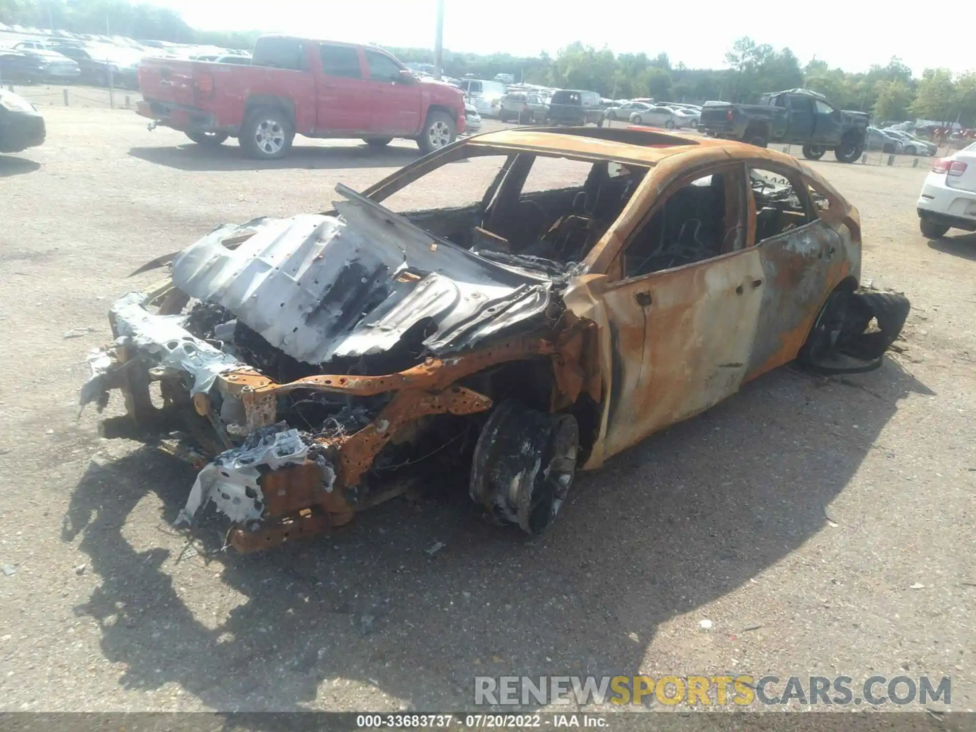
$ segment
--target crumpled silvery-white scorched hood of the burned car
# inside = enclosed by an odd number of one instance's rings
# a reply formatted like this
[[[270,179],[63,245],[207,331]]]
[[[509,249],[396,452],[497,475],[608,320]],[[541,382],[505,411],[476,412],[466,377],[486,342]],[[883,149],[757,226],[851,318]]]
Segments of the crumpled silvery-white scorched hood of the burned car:
[[[173,281],[311,364],[385,351],[422,321],[436,355],[542,322],[544,275],[482,259],[366,199],[335,207],[340,217],[215,229],[174,260]]]

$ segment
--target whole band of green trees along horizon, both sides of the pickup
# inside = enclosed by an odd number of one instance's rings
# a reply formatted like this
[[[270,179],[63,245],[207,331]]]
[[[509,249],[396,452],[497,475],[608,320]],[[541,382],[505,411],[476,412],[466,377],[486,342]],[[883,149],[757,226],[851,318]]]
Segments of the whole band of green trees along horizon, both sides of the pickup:
[[[251,48],[259,35],[258,31],[197,30],[175,11],[127,0],[0,0],[0,22],[225,48]],[[433,62],[430,49],[389,50],[401,61]],[[748,37],[737,40],[725,60],[727,68],[688,68],[672,64],[667,54],[614,54],[576,42],[554,57],[445,51],[444,72],[489,79],[510,73],[519,81],[586,89],[611,99],[652,97],[671,102],[755,102],[765,92],[806,87],[842,109],[868,112],[878,122],[921,117],[976,126],[973,71],[954,76],[947,68],[926,68],[915,78],[897,58],[858,72],[831,68],[818,59],[801,65],[789,48],[776,49]]]

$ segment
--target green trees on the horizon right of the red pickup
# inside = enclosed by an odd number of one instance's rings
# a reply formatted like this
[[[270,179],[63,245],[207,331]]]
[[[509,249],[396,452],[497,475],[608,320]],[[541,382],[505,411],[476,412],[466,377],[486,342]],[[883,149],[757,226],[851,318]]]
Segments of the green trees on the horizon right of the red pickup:
[[[391,49],[401,61],[432,62],[427,49]],[[444,52],[451,76],[516,80],[551,87],[587,89],[611,99],[652,97],[670,102],[756,102],[761,94],[804,87],[820,92],[841,109],[868,112],[880,121],[915,118],[976,127],[976,72],[956,76],[947,68],[926,68],[920,78],[898,58],[867,71],[832,68],[812,59],[805,65],[789,48],[776,49],[752,38],[737,40],[726,53],[727,68],[688,68],[667,54],[618,54],[571,43],[555,57],[543,53],[518,58]]]

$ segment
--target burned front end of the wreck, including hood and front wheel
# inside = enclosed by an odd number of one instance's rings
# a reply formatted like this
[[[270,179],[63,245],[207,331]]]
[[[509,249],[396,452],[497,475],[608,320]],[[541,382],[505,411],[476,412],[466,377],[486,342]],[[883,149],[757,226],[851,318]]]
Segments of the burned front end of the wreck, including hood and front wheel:
[[[486,478],[510,495],[484,483],[471,493],[497,517],[542,531],[579,442],[573,417],[548,414],[584,386],[587,327],[567,327],[574,319],[558,297],[575,263],[478,256],[341,192],[338,216],[215,229],[175,256],[172,282],[119,299],[116,342],[90,359],[82,406],[101,411],[121,389],[129,414],[102,421],[102,434],[158,444],[200,468],[179,522],[212,502],[248,550],[346,523],[406,490],[409,479],[394,478],[431,456],[441,460],[428,470],[468,468],[484,421],[468,415],[507,399],[537,405],[531,416],[505,410],[508,421],[551,422],[534,433],[543,451],[550,428],[553,442],[570,430],[562,453],[548,453],[562,477],[535,456],[520,473]],[[598,379],[590,384],[595,404]]]

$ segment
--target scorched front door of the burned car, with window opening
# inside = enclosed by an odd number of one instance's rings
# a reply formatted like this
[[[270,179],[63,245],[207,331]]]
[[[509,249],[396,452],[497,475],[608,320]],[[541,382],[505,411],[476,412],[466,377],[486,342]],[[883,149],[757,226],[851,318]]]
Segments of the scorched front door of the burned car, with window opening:
[[[665,186],[611,265],[619,280],[602,295],[612,349],[604,457],[742,383],[763,291],[746,221],[742,166],[699,169]]]

